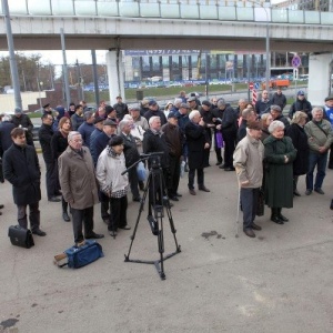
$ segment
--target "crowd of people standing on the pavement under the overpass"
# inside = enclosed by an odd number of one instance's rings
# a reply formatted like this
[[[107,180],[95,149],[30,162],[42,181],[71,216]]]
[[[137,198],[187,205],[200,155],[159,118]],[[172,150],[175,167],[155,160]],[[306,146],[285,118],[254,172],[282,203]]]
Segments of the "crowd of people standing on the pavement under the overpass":
[[[155,100],[143,100],[129,108],[121,97],[112,107],[102,101],[95,112],[88,110],[84,101],[71,103],[69,110],[53,110],[46,104],[39,141],[48,201],[61,202],[63,221],[72,220],[75,243],[104,236],[93,231],[98,202],[101,220],[115,238],[121,229],[131,229],[127,221],[129,192],[133,202],[141,202],[140,192],[149,191],[149,219],[155,204],[172,206],[170,201],[181,200],[182,167],[188,172],[190,195],[196,195],[196,190],[210,192],[204,169],[211,167],[210,154],[214,151],[220,169],[236,172],[243,231],[254,238],[253,230],[261,230],[254,223],[261,189],[272,211],[271,220],[278,224],[289,221],[282,209],[292,208],[294,195],[301,195],[300,175],[306,174],[306,195],[313,191],[324,194],[323,181],[333,143],[333,97],[325,99],[323,108],[312,108],[304,91],[299,91],[290,119],[283,115],[285,105],[281,90],[271,99],[263,91],[255,104],[241,99],[236,108],[223,98],[200,101],[195,94],[186,97],[183,91],[164,111]],[[41,173],[32,128],[31,120],[19,108],[12,119],[4,115],[0,152],[3,176],[13,188],[19,225],[28,228],[29,206],[31,231],[43,236],[39,210]],[[137,170],[141,153],[158,155],[163,176],[160,184],[152,182],[153,186],[145,189],[144,178]],[[155,162],[148,159],[147,170]],[[331,157],[329,168],[333,169]]]

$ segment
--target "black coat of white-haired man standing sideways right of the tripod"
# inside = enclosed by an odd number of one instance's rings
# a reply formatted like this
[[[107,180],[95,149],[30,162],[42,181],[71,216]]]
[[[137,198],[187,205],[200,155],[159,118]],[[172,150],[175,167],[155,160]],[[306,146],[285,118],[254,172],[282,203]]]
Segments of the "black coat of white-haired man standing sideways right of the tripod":
[[[193,123],[185,124],[185,137],[189,147],[189,168],[203,169],[204,167],[204,144],[210,140],[204,127]]]

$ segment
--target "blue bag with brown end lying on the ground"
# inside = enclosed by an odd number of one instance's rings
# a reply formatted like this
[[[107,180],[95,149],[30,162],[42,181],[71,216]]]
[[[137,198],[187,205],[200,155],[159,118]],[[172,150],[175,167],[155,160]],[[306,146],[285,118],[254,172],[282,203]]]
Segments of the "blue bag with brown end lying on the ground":
[[[101,256],[104,256],[101,244],[97,241],[85,240],[63,253],[54,255],[53,263],[59,268],[68,265],[70,269],[80,269]]]

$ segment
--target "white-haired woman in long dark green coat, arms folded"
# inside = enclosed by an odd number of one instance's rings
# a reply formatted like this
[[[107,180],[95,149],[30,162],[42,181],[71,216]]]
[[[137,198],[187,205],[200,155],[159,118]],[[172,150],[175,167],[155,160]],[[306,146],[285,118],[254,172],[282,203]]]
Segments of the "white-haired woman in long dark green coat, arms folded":
[[[292,140],[284,137],[284,124],[274,120],[264,140],[265,203],[271,208],[271,221],[284,224],[289,220],[282,215],[282,208],[293,206],[293,161],[296,158]]]

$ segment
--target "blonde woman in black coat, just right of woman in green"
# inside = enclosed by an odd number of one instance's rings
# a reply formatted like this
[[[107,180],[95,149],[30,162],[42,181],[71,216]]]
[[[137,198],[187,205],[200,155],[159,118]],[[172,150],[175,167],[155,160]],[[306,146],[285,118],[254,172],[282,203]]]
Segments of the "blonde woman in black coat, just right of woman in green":
[[[304,131],[306,119],[307,114],[305,112],[296,111],[285,133],[285,135],[291,138],[294,148],[297,150],[297,155],[293,163],[294,195],[296,196],[301,196],[297,191],[299,176],[306,174],[309,167],[309,144],[307,135]]]

